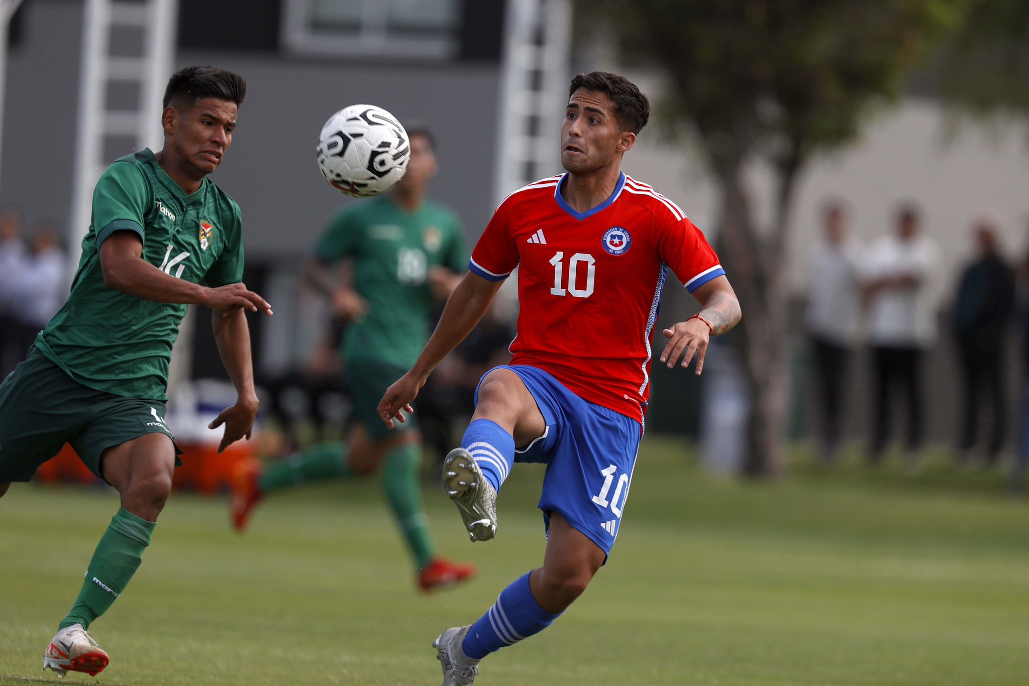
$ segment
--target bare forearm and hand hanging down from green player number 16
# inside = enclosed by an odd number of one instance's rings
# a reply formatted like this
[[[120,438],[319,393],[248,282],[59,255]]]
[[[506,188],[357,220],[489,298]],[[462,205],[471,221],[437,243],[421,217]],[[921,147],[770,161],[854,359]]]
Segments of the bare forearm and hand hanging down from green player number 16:
[[[250,355],[250,328],[243,310],[234,308],[228,311],[215,310],[211,313],[211,328],[214,330],[214,340],[218,345],[221,363],[228,372],[236,387],[237,400],[232,407],[221,410],[221,413],[211,424],[209,429],[217,429],[225,425],[225,433],[218,444],[221,453],[239,439],[250,439],[253,431],[254,418],[257,416],[257,393],[254,391],[254,370]]]

